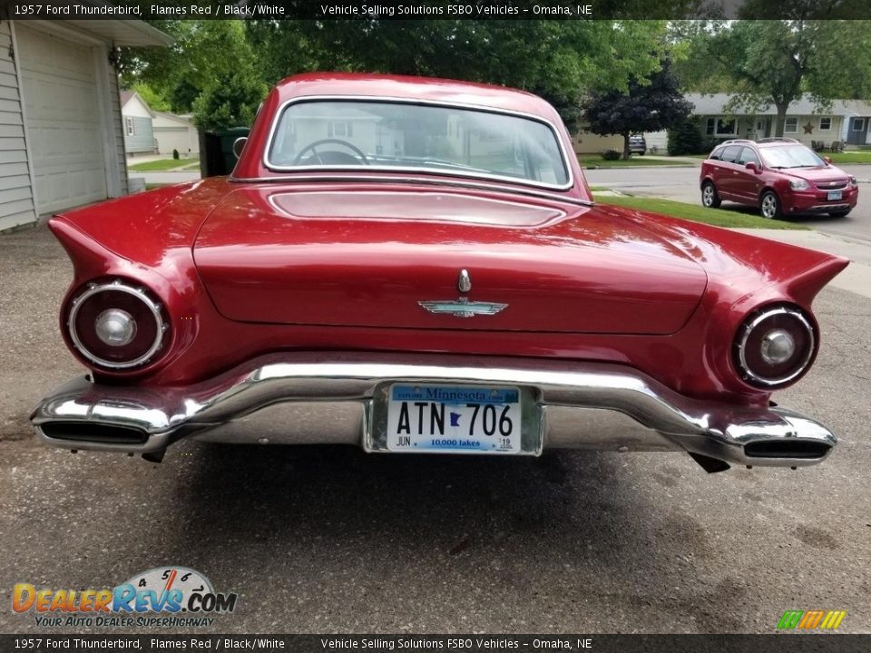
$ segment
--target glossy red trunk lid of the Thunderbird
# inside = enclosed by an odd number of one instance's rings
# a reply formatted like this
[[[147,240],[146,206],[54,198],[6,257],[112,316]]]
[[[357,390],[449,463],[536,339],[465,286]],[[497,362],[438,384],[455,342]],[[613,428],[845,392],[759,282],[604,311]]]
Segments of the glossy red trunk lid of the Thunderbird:
[[[666,239],[605,211],[372,186],[250,186],[226,197],[194,244],[220,313],[275,324],[670,334],[707,284]],[[420,304],[464,301],[506,306],[464,317]]]

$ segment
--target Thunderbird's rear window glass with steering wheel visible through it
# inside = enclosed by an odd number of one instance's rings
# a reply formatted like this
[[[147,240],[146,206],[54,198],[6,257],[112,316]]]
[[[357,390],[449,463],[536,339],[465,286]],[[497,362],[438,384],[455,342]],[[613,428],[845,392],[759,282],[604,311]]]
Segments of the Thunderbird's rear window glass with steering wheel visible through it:
[[[548,124],[403,102],[293,102],[279,117],[267,164],[288,171],[367,168],[569,184],[563,151]]]

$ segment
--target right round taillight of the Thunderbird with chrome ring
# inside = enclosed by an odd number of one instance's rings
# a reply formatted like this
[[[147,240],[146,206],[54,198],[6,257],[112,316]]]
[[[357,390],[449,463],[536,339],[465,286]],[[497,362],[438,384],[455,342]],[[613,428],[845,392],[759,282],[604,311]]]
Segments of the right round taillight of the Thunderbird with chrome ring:
[[[762,308],[738,330],[735,365],[750,385],[786,385],[807,369],[815,347],[814,327],[800,309]]]

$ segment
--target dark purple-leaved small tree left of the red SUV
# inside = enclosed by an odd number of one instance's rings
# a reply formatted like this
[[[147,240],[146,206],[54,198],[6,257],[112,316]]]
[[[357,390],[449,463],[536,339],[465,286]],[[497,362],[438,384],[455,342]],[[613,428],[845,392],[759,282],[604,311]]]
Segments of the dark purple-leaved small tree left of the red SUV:
[[[629,159],[629,137],[635,132],[658,132],[684,122],[692,104],[683,99],[678,82],[663,61],[661,70],[647,78],[632,78],[627,93],[592,93],[584,102],[584,115],[593,133],[623,137],[623,156]]]

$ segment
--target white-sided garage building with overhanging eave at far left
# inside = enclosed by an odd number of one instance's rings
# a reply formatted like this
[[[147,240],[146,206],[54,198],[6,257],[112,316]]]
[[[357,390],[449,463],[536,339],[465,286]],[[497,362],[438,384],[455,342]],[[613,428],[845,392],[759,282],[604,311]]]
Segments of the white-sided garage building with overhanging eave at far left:
[[[0,230],[127,193],[114,48],[171,43],[141,21],[18,21],[0,5]]]

